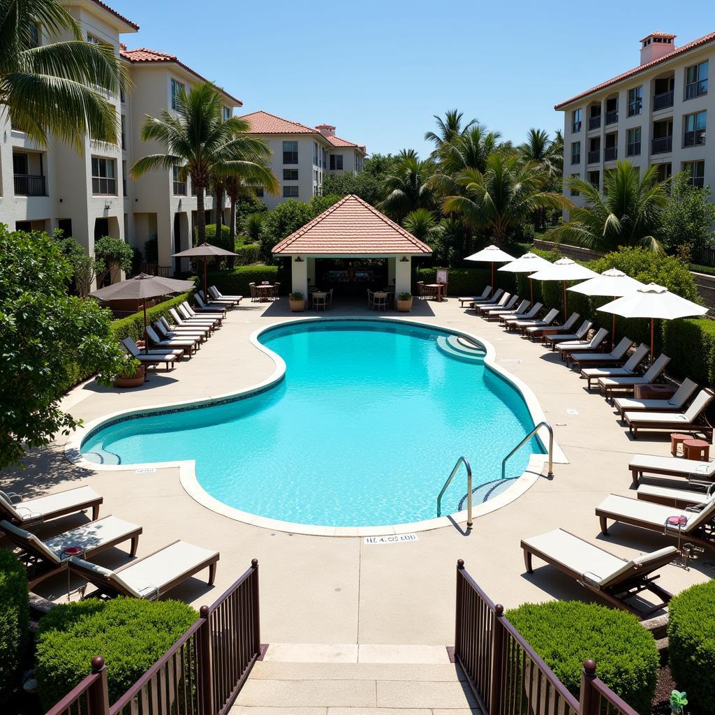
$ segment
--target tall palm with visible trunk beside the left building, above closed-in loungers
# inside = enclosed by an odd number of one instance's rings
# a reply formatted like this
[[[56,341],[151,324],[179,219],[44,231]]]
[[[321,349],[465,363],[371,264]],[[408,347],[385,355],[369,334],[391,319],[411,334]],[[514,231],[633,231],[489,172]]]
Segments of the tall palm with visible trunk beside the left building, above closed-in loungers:
[[[250,182],[277,191],[277,179],[263,162],[270,159],[265,142],[245,132],[249,124],[240,117],[222,118],[218,89],[210,82],[197,84],[189,94],[182,89],[176,97],[177,116],[167,109],[161,117],[147,117],[142,141],[154,140],[166,147],[164,154],[149,154],[132,165],[132,177],[151,171],[179,167],[179,180],[191,177],[197,194],[197,233],[199,243],[206,240],[204,191],[211,179],[232,172]]]

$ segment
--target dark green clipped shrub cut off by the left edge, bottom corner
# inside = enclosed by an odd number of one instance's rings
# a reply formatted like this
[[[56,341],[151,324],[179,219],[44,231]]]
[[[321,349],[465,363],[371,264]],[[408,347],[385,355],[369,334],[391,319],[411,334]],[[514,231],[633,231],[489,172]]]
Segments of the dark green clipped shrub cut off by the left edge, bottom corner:
[[[9,696],[27,644],[27,567],[0,549],[0,703]]]

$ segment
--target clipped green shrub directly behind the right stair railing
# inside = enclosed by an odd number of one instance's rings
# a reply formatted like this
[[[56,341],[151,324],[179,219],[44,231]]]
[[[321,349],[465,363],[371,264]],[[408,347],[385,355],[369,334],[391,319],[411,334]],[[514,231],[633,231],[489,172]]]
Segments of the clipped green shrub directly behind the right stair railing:
[[[596,603],[524,603],[506,613],[513,626],[578,698],[583,661],[639,713],[651,712],[659,659],[656,641],[636,616]]]

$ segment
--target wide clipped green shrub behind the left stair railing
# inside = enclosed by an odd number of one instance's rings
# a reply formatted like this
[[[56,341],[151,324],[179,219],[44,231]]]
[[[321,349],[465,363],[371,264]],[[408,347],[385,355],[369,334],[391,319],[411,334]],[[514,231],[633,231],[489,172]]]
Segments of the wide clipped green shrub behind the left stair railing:
[[[35,673],[47,709],[104,656],[109,702],[124,694],[197,619],[180,601],[88,599],[53,608],[39,623]]]

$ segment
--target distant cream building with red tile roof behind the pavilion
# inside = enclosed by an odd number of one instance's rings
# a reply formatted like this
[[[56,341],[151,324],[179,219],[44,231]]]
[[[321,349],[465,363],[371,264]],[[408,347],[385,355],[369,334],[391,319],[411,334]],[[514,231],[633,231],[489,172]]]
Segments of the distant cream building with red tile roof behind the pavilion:
[[[285,199],[307,202],[319,196],[325,174],[363,170],[365,146],[335,136],[332,124],[308,127],[268,112],[252,112],[242,119],[250,124],[250,133],[263,139],[272,152],[269,166],[280,189],[277,196],[260,194],[269,208]]]

